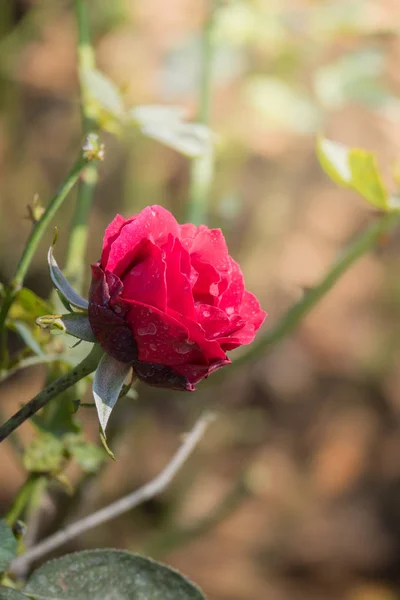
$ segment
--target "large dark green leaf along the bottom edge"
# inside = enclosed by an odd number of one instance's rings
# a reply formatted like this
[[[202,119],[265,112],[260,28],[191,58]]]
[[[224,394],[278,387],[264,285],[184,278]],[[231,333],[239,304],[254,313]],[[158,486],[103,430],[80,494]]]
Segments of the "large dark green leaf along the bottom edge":
[[[51,560],[25,588],[37,600],[205,600],[177,571],[118,550],[88,550]]]

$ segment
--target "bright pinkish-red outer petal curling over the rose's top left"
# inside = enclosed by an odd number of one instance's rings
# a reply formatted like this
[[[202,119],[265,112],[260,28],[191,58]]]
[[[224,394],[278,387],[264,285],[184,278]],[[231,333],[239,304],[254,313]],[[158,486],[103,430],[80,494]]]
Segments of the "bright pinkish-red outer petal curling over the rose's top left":
[[[134,262],[140,242],[147,239],[162,246],[171,233],[179,237],[179,227],[172,214],[162,206],[149,206],[120,230],[113,241],[107,270],[121,276]]]

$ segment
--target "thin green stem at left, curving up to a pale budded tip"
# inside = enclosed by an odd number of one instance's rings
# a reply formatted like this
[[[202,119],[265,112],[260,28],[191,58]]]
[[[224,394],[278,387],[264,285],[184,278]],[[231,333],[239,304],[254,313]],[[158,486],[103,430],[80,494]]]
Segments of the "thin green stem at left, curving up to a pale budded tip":
[[[77,182],[82,170],[86,165],[87,159],[85,159],[84,156],[80,156],[80,158],[77,160],[77,162],[67,175],[60,189],[50,201],[50,204],[46,208],[42,217],[34,225],[32,232],[28,238],[28,241],[25,245],[21,259],[17,265],[14,277],[6,290],[5,297],[0,310],[0,364],[2,365],[4,364],[4,357],[6,354],[7,333],[5,328],[5,321],[8,312],[11,308],[12,303],[14,302],[18,290],[21,288],[24,282],[25,275],[28,271],[33,255],[36,252],[36,249],[43,237],[44,232],[46,231],[57,210],[60,208],[61,204],[67,197],[71,188]]]

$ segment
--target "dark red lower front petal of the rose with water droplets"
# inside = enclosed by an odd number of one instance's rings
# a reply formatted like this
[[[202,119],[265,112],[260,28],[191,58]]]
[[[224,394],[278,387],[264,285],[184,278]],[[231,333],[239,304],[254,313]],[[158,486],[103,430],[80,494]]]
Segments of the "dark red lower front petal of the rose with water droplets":
[[[207,364],[207,356],[190,339],[185,324],[156,308],[138,302],[130,304],[127,320],[135,336],[139,360],[166,366]]]

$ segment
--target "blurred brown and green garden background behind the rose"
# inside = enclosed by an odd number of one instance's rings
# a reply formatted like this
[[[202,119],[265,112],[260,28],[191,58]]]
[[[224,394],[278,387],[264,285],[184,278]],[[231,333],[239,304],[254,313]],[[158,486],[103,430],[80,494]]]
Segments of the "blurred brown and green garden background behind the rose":
[[[173,104],[195,119],[205,2],[91,0],[98,69],[129,106]],[[372,222],[315,157],[319,131],[377,154],[395,189],[399,159],[398,0],[226,0],[215,17],[210,226],[221,227],[269,316],[301,297]],[[70,2],[0,3],[0,277],[29,233],[26,206],[54,193],[82,141]],[[159,203],[185,220],[190,160],[150,139],[104,134],[88,264],[105,226]],[[63,265],[72,192],[57,215]],[[48,232],[26,285],[51,292]],[[203,404],[218,419],[171,487],[66,550],[146,552],[209,600],[400,598],[400,238],[360,260],[296,333],[196,394],[138,388],[113,413],[117,462],[79,493],[54,483],[36,519],[47,535],[154,476]],[[88,268],[89,275],[89,268]],[[11,350],[16,342],[11,339]],[[1,384],[11,414],[43,385],[31,368]],[[81,416],[81,413],[84,413]],[[87,414],[88,413],[88,414]],[[80,411],[97,438],[96,418]],[[32,437],[24,426],[25,440]],[[0,452],[0,512],[25,479]],[[71,465],[72,485],[80,478]]]

